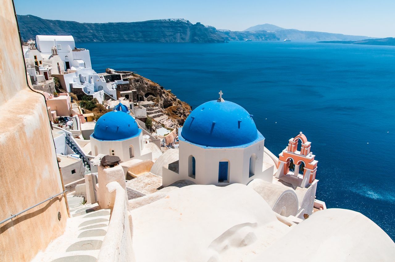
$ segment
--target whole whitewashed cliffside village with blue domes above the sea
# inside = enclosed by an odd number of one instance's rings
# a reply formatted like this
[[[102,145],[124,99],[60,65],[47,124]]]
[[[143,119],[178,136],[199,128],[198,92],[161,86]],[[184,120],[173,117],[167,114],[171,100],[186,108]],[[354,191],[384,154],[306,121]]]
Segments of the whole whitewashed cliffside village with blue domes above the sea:
[[[7,1],[4,10],[15,36]],[[15,67],[20,84],[2,77],[0,88],[31,107],[17,112],[24,121],[0,116],[1,146],[17,163],[2,166],[7,186],[0,191],[11,198],[21,189],[0,209],[5,261],[395,257],[395,244],[370,219],[316,199],[318,161],[304,133],[274,154],[253,115],[226,101],[226,90],[190,110],[134,72],[96,73],[72,36],[23,43],[24,71],[11,51],[19,50],[15,39],[0,43],[10,53],[0,69]],[[13,105],[7,97],[0,96],[1,109]],[[26,159],[34,165],[17,169]]]

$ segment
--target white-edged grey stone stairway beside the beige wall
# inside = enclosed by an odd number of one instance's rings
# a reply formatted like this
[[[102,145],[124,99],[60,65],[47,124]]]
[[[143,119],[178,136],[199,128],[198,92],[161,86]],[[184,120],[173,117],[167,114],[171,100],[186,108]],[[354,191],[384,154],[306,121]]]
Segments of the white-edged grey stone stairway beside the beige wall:
[[[98,204],[83,205],[82,197],[68,195],[70,207],[64,234],[52,241],[32,262],[94,262],[107,233],[110,210]]]

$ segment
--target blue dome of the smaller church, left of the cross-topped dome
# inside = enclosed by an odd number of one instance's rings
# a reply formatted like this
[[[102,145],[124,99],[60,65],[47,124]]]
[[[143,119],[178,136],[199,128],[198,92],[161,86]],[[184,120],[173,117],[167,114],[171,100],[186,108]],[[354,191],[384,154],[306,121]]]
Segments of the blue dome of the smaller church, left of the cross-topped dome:
[[[124,140],[140,132],[132,116],[122,111],[111,111],[98,119],[92,137],[98,140]]]

